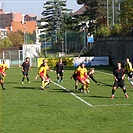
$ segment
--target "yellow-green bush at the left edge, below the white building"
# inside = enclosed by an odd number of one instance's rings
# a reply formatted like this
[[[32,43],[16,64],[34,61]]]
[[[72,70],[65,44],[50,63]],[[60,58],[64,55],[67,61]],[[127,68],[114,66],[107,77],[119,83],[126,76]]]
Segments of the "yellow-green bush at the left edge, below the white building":
[[[0,39],[0,47],[1,48],[8,48],[11,46],[13,46],[13,44],[9,38]]]

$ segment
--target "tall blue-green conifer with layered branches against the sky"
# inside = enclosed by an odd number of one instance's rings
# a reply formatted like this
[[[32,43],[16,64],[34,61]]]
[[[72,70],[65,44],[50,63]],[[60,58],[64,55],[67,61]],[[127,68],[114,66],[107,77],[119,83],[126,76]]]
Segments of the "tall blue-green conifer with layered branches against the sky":
[[[47,39],[57,42],[58,34],[61,33],[64,16],[71,10],[65,8],[67,0],[49,0],[44,3],[44,11],[42,12],[42,22],[46,22],[43,27],[44,34]],[[43,36],[44,37],[44,36]]]

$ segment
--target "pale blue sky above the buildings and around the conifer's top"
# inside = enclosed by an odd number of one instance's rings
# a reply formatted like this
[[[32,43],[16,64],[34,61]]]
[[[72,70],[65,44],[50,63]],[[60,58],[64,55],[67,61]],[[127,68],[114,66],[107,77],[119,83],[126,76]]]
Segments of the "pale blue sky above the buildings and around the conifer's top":
[[[4,12],[19,12],[41,16],[43,4],[48,0],[0,0],[0,7]],[[82,5],[77,5],[76,0],[67,0],[67,8],[77,11]]]

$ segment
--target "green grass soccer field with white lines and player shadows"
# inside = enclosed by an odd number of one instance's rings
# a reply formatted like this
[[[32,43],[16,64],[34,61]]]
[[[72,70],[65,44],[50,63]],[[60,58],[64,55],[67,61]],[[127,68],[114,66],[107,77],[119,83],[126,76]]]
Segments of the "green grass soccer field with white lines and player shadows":
[[[0,90],[0,133],[132,133],[133,88],[125,78],[130,98],[118,88],[110,99],[114,83],[110,70],[96,67],[94,77],[101,85],[90,80],[90,93],[83,94],[74,91],[72,69],[65,70],[61,83],[49,72],[52,83],[40,90],[40,78],[34,80],[37,68],[29,71],[31,83],[23,85],[21,68],[10,68],[6,90]]]

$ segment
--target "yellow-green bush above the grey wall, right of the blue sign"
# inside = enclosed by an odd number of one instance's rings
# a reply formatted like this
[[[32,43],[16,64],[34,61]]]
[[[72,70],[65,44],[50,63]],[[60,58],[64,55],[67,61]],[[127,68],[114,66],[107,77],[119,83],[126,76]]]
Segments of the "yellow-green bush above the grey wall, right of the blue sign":
[[[97,36],[108,37],[110,36],[110,28],[107,26],[101,26],[97,28]]]

